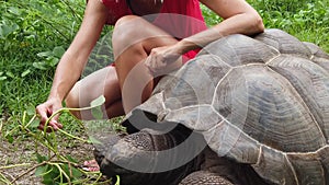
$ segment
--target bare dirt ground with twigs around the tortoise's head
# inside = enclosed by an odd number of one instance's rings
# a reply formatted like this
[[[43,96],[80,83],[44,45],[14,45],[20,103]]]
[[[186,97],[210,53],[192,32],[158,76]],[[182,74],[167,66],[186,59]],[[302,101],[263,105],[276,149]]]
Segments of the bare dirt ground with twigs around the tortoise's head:
[[[106,130],[113,132],[113,130],[117,129],[117,124],[115,123],[120,123],[121,119],[122,118],[114,118],[106,122],[90,122],[84,124],[84,127],[88,127],[87,130],[82,129],[82,131],[78,129],[73,131],[75,134],[72,135],[83,140],[88,140],[92,131],[106,135]],[[20,130],[15,131],[16,136],[13,136],[13,142],[9,142],[9,140],[4,138],[4,130],[10,130],[5,128],[10,126],[5,124],[7,122],[3,122],[3,119],[0,118],[0,185],[41,185],[42,177],[34,175],[35,169],[38,165],[36,153],[42,155],[49,155],[50,153],[50,155],[53,155],[54,152],[50,152],[48,148],[42,146],[39,141],[36,141],[26,132],[24,134],[23,131],[22,135],[20,135]],[[57,150],[60,155],[70,155],[78,162],[78,164],[83,164],[83,161],[93,159],[93,146],[91,143],[80,141],[75,138],[68,138],[66,135],[59,134],[59,131],[57,131],[55,136],[56,143],[58,144]],[[54,141],[52,140],[50,142]],[[91,182],[87,181],[87,183],[82,184],[111,185],[111,183],[109,183],[109,181],[106,181],[100,173],[83,173],[83,177],[86,176],[88,180],[89,177],[92,180],[90,180]],[[99,176],[102,176],[102,181],[98,181],[100,183],[95,183],[95,177]],[[87,177],[83,180],[87,180]]]

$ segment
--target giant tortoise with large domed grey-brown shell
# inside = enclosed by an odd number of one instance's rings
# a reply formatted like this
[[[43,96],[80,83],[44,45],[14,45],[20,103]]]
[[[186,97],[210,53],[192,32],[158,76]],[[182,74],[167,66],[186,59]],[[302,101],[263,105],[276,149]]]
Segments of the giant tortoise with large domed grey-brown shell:
[[[123,125],[95,150],[123,184],[329,184],[329,55],[281,30],[223,37]]]

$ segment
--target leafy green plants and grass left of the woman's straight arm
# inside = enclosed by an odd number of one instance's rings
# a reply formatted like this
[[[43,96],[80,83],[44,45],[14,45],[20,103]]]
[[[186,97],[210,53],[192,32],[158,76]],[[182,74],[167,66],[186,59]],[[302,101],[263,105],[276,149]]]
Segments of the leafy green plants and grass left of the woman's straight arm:
[[[47,97],[54,69],[77,32],[80,1],[0,1],[0,117],[16,123]],[[7,120],[9,119],[9,120]]]

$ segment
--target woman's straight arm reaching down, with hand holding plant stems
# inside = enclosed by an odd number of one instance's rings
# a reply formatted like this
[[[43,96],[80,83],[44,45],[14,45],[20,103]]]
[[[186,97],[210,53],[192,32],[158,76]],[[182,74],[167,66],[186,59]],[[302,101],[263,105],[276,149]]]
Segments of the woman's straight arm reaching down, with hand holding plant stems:
[[[36,107],[36,113],[41,116],[39,129],[43,129],[47,118],[61,107],[64,99],[80,78],[106,19],[106,8],[99,0],[90,0],[79,31],[57,66],[48,100]],[[56,119],[57,117],[49,122],[49,126],[55,130],[61,127]]]

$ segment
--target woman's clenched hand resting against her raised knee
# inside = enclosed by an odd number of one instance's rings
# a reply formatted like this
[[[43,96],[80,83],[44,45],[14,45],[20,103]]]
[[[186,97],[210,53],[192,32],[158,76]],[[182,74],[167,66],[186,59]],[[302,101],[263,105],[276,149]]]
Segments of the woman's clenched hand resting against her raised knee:
[[[181,67],[181,55],[174,45],[157,47],[151,49],[145,65],[152,76],[166,74]]]

